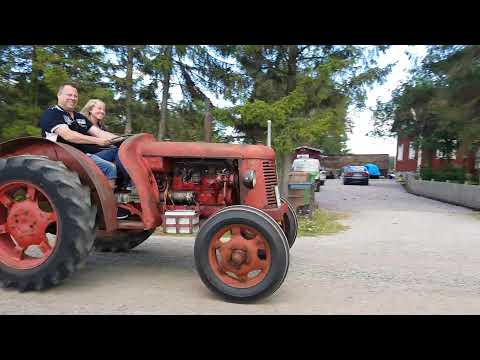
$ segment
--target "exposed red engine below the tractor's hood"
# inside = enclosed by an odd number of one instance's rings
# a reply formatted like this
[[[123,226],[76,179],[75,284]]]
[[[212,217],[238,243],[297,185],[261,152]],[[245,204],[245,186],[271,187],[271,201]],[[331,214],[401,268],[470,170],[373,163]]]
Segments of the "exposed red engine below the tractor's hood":
[[[233,204],[236,166],[228,160],[171,159],[169,173],[157,174],[160,198],[167,209],[197,208],[208,216]]]

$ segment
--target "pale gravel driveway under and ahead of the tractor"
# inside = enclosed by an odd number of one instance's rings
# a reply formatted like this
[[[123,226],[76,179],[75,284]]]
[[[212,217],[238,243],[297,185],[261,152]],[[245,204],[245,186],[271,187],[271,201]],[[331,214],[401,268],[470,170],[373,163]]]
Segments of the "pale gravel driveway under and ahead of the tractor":
[[[327,180],[321,207],[349,212],[350,229],[297,239],[271,297],[218,299],[198,278],[192,237],[153,237],[126,254],[95,253],[61,286],[0,290],[0,314],[480,313],[480,219],[406,193],[391,180]]]

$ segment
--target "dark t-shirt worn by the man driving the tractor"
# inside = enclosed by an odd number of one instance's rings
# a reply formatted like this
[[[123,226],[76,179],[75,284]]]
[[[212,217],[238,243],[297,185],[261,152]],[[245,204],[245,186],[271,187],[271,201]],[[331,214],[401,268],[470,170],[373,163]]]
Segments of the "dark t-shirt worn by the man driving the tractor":
[[[48,108],[42,114],[39,121],[39,126],[42,128],[42,136],[52,141],[71,145],[84,153],[95,154],[103,150],[100,146],[94,144],[71,143],[55,133],[57,128],[66,125],[70,130],[83,135],[89,135],[88,130],[92,127],[92,123],[80,113],[74,112],[74,115],[74,118],[72,118],[68,112],[58,105]]]

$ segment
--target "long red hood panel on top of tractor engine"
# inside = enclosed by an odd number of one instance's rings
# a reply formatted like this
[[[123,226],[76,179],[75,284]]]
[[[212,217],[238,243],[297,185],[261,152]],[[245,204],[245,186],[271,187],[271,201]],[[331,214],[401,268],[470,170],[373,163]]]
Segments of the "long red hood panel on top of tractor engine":
[[[273,149],[265,145],[156,141],[150,134],[139,134],[127,141],[138,143],[142,156],[146,157],[275,159]]]

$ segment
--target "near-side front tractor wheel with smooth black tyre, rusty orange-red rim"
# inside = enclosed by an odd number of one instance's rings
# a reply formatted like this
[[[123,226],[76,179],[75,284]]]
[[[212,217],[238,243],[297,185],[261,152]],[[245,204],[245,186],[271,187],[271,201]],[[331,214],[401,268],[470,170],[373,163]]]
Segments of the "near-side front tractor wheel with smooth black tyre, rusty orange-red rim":
[[[232,302],[273,294],[289,265],[280,225],[250,206],[227,207],[212,215],[195,239],[195,265],[203,283]]]

